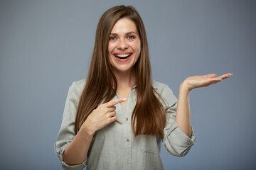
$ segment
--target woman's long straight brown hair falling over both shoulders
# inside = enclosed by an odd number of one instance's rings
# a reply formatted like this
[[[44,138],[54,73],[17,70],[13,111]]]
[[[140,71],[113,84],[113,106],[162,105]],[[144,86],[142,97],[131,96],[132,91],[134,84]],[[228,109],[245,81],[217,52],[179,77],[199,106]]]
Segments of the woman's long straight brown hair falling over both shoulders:
[[[157,98],[156,95],[159,96],[159,94],[152,86],[146,30],[142,18],[132,6],[114,6],[105,11],[100,18],[85,89],[78,103],[75,132],[78,132],[88,115],[100,103],[107,103],[117,92],[117,79],[108,59],[108,42],[114,24],[120,18],[129,18],[135,23],[141,40],[141,53],[137,63],[134,64],[137,103],[132,113],[132,130],[135,136],[159,135],[162,137],[166,124],[164,106]]]

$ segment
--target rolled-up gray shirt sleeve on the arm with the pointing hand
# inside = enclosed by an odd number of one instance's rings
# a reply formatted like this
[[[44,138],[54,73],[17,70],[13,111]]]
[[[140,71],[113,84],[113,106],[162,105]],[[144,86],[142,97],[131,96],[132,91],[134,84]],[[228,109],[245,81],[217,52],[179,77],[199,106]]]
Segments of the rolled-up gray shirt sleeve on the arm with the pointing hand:
[[[58,159],[63,166],[63,169],[67,170],[84,169],[87,164],[87,159],[85,160],[85,162],[82,162],[82,164],[74,166],[69,166],[63,161],[63,152],[75,137],[75,116],[79,99],[80,94],[78,94],[76,85],[75,83],[73,83],[68,90],[68,96],[65,101],[65,108],[63,113],[63,120],[60,126],[60,132],[58,134],[57,142],[55,142],[54,145],[55,153],[57,154]]]

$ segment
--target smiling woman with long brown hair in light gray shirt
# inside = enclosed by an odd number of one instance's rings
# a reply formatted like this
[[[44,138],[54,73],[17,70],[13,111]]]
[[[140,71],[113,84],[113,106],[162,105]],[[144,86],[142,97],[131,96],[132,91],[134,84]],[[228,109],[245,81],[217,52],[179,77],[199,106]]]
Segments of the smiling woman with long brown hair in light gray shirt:
[[[161,140],[169,154],[186,155],[196,137],[189,91],[232,74],[188,77],[178,101],[151,79],[142,18],[131,6],[115,6],[100,18],[87,79],[68,91],[55,143],[64,169],[164,169]]]

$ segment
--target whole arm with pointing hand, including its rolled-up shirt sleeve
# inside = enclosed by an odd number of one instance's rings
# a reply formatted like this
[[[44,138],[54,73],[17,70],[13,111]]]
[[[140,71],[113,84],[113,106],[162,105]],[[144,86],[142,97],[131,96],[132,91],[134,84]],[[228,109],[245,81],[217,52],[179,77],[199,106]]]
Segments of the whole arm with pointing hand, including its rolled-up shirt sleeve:
[[[124,101],[123,98],[101,104],[88,116],[75,135],[75,116],[78,101],[84,86],[73,83],[68,91],[55,153],[64,169],[83,169],[87,164],[87,152],[94,133],[117,119],[114,105]]]

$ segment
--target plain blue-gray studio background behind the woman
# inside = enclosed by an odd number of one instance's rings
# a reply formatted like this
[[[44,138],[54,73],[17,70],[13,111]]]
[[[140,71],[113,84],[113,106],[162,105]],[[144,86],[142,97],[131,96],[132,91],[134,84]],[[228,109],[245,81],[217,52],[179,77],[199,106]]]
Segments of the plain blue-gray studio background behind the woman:
[[[178,86],[196,74],[233,77],[191,91],[196,144],[165,169],[255,169],[255,1],[0,1],[1,169],[61,169],[53,144],[68,87],[83,79],[95,29],[132,5],[149,40],[153,78]]]

